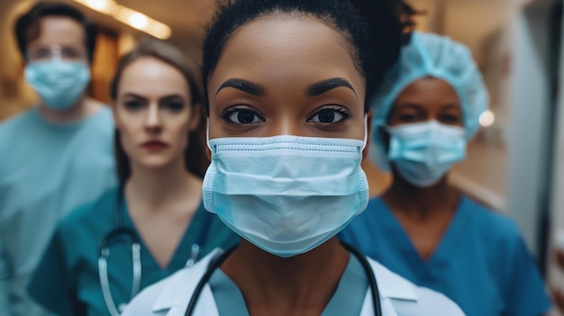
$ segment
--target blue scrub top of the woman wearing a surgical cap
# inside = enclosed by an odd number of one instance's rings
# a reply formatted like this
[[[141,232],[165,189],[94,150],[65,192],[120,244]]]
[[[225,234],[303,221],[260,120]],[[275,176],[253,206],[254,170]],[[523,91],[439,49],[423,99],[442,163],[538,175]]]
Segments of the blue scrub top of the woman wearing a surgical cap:
[[[538,316],[550,310],[541,275],[514,222],[466,197],[427,261],[379,198],[340,238],[414,284],[444,293],[468,316]]]

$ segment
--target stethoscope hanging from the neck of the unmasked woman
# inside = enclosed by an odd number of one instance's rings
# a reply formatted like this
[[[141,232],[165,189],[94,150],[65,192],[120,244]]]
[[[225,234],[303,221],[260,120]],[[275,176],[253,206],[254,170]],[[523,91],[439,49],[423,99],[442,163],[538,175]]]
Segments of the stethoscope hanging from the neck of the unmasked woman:
[[[110,257],[110,248],[114,245],[125,243],[131,246],[133,281],[130,300],[139,293],[141,288],[141,239],[139,239],[134,230],[125,228],[123,224],[124,199],[123,187],[120,186],[115,203],[114,230],[106,234],[102,240],[100,240],[100,245],[98,246],[98,276],[100,278],[100,287],[102,288],[105,306],[112,316],[119,316],[125,308],[125,304],[120,304],[120,306],[115,305],[108,278],[107,261],[108,257]],[[204,225],[196,236],[195,243],[192,244],[190,258],[186,261],[186,266],[194,266],[196,263],[200,254],[200,248],[205,245],[205,238],[207,237],[211,223],[212,213],[205,212]]]

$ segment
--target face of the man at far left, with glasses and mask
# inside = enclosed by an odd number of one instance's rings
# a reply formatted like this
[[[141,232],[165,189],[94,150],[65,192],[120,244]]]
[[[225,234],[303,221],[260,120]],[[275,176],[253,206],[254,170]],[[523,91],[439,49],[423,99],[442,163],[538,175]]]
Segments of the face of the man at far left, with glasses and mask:
[[[85,34],[80,23],[59,16],[41,19],[40,35],[27,48],[25,79],[55,111],[77,104],[90,81]]]

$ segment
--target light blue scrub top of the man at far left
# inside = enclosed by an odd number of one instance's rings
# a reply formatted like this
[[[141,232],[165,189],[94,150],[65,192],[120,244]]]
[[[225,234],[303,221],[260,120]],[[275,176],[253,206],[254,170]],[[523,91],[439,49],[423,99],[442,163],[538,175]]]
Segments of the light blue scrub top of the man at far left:
[[[0,315],[45,315],[25,293],[57,222],[116,183],[108,107],[54,124],[37,108],[0,123]]]

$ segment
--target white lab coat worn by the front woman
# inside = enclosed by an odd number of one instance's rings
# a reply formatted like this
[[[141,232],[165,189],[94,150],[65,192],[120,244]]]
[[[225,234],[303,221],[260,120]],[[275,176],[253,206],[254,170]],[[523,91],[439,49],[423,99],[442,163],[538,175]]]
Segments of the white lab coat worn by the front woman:
[[[217,252],[215,250],[204,257],[196,266],[182,269],[150,285],[132,300],[122,315],[184,316],[196,284]],[[368,262],[378,282],[383,316],[464,316],[459,306],[443,294],[418,287],[374,260],[368,259]],[[359,316],[374,315],[371,297],[368,291]],[[200,294],[194,315],[219,316],[209,285],[205,285]]]

